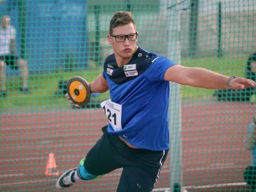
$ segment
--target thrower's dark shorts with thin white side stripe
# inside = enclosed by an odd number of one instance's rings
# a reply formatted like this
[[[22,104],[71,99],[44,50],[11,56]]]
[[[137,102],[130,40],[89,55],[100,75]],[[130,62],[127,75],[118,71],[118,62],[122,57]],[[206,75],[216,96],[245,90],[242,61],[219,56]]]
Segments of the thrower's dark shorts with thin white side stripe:
[[[84,168],[92,175],[104,175],[123,168],[116,192],[152,191],[168,150],[131,148],[115,134],[106,132],[88,152]]]

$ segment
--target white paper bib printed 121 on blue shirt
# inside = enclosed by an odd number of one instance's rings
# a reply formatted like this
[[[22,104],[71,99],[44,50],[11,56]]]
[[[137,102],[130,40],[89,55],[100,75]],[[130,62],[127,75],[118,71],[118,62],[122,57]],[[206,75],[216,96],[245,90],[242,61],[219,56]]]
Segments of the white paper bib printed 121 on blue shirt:
[[[105,115],[107,116],[109,123],[112,125],[115,131],[122,130],[122,105],[112,102],[110,99],[105,100],[100,104]]]

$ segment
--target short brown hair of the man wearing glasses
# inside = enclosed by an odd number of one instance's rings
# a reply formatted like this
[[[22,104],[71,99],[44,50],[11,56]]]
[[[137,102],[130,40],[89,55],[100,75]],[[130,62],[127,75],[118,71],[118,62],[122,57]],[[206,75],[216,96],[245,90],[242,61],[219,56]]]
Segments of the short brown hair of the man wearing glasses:
[[[130,23],[136,26],[131,12],[116,12],[109,23],[109,35],[113,35],[113,28],[125,26]]]

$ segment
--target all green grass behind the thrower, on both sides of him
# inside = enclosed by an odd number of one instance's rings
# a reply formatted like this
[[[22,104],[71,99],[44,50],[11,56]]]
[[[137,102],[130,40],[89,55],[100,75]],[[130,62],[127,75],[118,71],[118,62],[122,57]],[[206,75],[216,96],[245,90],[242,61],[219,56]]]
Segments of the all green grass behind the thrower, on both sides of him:
[[[203,59],[186,59],[182,60],[182,65],[187,67],[204,67],[215,72],[220,72],[227,76],[236,74],[244,76],[246,58],[225,58],[218,60],[212,58]],[[49,108],[49,107],[65,107],[69,106],[68,101],[64,97],[58,97],[54,94],[58,88],[58,81],[68,80],[73,76],[82,76],[88,82],[93,81],[102,72],[102,68],[91,68],[74,72],[58,72],[56,74],[40,74],[29,77],[29,87],[31,93],[24,94],[18,90],[19,80],[8,79],[8,97],[0,98],[0,109],[17,109],[17,108]],[[201,88],[193,88],[190,86],[181,86],[182,98],[193,97],[211,97],[214,90],[206,90]],[[100,100],[108,99],[109,93],[102,93]]]

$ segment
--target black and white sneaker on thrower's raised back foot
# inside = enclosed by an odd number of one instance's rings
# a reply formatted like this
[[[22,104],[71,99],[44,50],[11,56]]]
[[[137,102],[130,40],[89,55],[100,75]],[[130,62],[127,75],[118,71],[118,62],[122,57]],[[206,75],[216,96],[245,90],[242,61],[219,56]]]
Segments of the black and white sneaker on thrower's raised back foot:
[[[76,180],[74,180],[74,174],[76,173],[77,168],[72,168],[67,172],[63,173],[60,178],[56,182],[57,189],[65,189],[73,184],[76,184]]]

